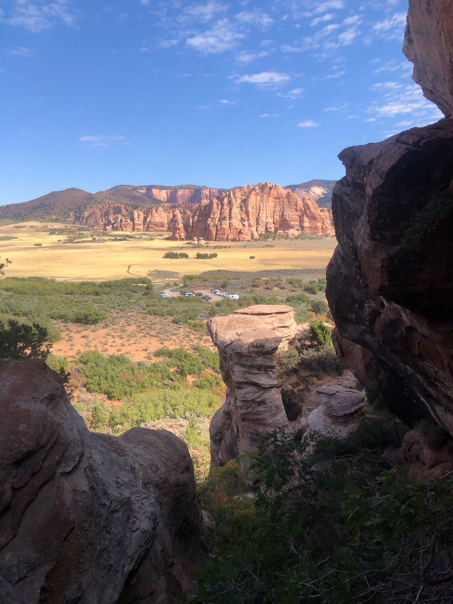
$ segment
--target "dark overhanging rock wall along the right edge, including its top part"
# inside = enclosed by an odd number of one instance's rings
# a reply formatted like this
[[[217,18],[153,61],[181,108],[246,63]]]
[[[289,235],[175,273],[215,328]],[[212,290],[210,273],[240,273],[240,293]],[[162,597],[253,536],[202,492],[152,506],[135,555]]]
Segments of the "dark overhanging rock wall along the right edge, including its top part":
[[[411,1],[406,34],[416,80],[446,113],[449,9]],[[339,157],[326,292],[336,350],[404,422],[431,415],[453,434],[453,118]]]

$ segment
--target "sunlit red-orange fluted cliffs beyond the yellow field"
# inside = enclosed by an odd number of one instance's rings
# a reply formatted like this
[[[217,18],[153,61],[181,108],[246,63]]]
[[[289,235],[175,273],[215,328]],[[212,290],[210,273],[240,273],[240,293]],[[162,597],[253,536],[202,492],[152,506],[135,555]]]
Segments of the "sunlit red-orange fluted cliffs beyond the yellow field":
[[[172,190],[181,193],[182,189]],[[170,192],[172,192],[170,191]],[[199,191],[199,193],[196,193]],[[215,189],[197,189],[187,199],[161,194],[162,205],[132,209],[127,205],[101,205],[83,213],[80,222],[108,231],[172,231],[172,239],[249,241],[262,233],[295,237],[300,233],[333,233],[330,212],[308,198],[270,182],[235,188],[213,198]],[[182,194],[182,193],[181,193]],[[184,196],[183,196],[184,197]],[[198,199],[199,202],[192,202]],[[165,199],[164,199],[165,198]],[[160,199],[160,198],[159,198]],[[191,201],[192,200],[192,201]],[[170,201],[175,205],[170,204]]]

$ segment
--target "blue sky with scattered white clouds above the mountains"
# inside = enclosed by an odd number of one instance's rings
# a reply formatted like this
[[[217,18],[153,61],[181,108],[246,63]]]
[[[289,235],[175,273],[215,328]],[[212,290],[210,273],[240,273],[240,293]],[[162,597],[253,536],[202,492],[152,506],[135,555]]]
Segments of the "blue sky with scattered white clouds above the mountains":
[[[401,51],[407,0],[0,7],[0,204],[336,179],[344,147],[442,117]]]

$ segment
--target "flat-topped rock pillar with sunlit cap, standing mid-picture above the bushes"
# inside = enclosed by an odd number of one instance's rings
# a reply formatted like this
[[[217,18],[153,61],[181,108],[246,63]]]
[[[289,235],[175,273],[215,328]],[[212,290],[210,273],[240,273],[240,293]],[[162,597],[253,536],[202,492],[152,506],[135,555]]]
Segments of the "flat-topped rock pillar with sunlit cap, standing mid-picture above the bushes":
[[[294,339],[291,306],[259,304],[207,323],[220,355],[226,400],[211,420],[211,465],[256,448],[275,428],[290,429],[277,389],[277,351]]]

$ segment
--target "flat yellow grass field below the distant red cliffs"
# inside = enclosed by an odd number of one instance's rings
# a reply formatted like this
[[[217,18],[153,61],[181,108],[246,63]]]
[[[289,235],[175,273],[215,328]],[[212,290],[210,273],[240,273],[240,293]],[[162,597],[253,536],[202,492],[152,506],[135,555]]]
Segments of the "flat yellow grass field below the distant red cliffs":
[[[64,225],[48,222],[49,227]],[[48,277],[65,281],[101,281],[129,276],[145,277],[154,269],[175,271],[181,275],[199,274],[210,270],[262,271],[263,269],[321,269],[327,266],[335,249],[335,239],[309,239],[260,243],[222,243],[226,249],[214,249],[220,242],[211,242],[205,251],[215,251],[219,256],[212,260],[196,260],[200,249],[193,249],[184,242],[164,240],[164,235],[155,240],[129,239],[103,243],[66,243],[66,235],[48,234],[42,223],[21,222],[27,228],[13,225],[0,226],[1,236],[18,239],[0,240],[2,260],[9,258],[8,277]],[[16,225],[16,226],[17,226]],[[37,226],[38,228],[30,228]],[[87,231],[88,232],[88,231]],[[115,233],[121,237],[121,233]],[[137,233],[137,237],[140,233]],[[35,247],[34,243],[42,243]],[[265,247],[266,243],[268,246]],[[272,246],[269,246],[272,245]],[[189,259],[169,260],[162,256],[167,251],[184,251]],[[250,255],[255,259],[251,260]]]

